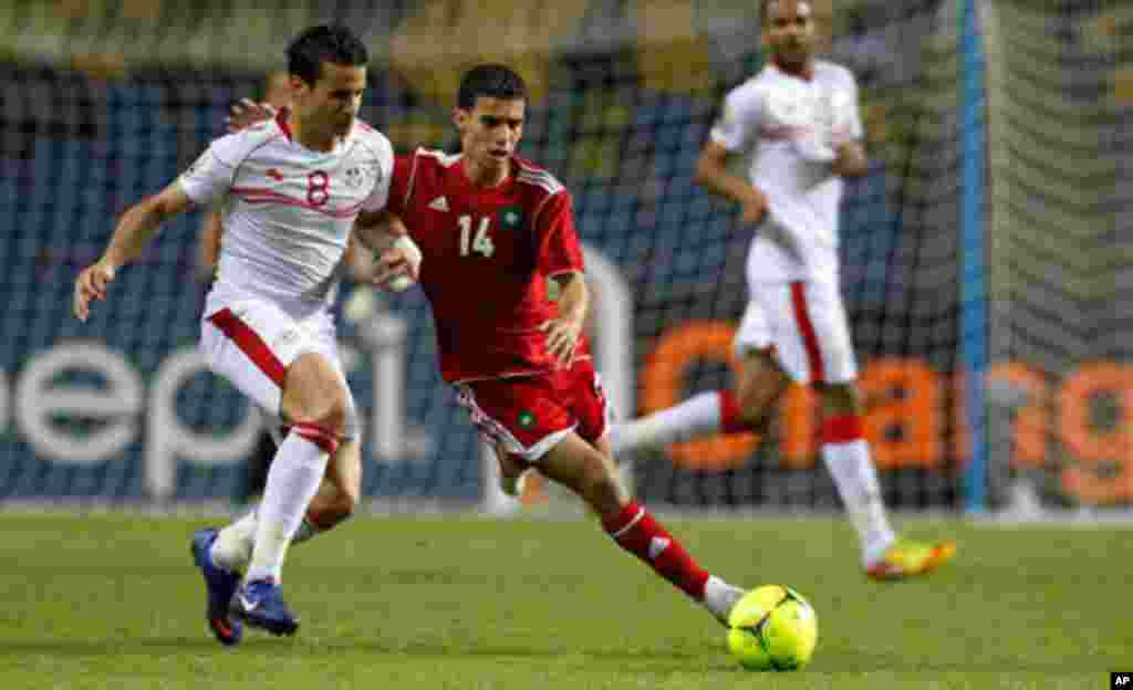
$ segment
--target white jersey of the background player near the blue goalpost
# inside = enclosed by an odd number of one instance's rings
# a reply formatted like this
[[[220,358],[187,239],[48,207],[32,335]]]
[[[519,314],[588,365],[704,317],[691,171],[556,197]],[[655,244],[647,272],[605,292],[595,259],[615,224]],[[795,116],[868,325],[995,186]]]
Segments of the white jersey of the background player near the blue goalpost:
[[[833,62],[816,60],[810,79],[768,65],[729,92],[712,139],[751,151],[751,182],[769,207],[748,255],[750,282],[837,280],[843,185],[830,142],[862,133],[858,85]]]

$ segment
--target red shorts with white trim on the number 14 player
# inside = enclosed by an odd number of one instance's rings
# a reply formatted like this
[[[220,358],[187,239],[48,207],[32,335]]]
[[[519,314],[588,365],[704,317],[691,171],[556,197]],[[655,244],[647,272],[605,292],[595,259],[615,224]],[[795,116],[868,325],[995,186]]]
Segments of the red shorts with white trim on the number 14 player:
[[[571,432],[595,442],[606,433],[612,410],[594,365],[580,359],[569,369],[458,383],[457,402],[489,442],[534,462]]]

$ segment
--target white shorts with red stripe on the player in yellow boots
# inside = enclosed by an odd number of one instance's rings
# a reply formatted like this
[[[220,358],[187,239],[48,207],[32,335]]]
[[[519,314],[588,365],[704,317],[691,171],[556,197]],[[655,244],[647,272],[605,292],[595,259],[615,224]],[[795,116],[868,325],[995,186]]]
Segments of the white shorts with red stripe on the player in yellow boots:
[[[842,295],[832,282],[751,286],[732,348],[740,359],[750,350],[773,349],[780,366],[803,385],[858,377]]]

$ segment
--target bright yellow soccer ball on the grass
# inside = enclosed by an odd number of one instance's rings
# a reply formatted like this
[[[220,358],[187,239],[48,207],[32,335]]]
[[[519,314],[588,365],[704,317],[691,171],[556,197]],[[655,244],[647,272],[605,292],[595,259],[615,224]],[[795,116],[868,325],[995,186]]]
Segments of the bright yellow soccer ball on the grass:
[[[765,585],[743,595],[729,615],[727,649],[751,671],[795,671],[818,644],[818,616],[798,591]]]

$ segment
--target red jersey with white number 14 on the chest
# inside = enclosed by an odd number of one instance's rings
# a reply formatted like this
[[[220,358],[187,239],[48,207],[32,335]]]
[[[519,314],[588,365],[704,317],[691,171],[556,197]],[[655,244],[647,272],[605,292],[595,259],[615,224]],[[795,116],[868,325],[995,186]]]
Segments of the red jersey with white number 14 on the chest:
[[[557,316],[547,278],[583,269],[570,194],[518,156],[501,185],[474,187],[461,159],[399,155],[387,205],[421,250],[441,375],[454,383],[554,370],[538,330]]]

